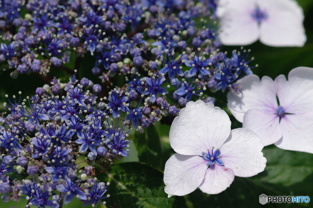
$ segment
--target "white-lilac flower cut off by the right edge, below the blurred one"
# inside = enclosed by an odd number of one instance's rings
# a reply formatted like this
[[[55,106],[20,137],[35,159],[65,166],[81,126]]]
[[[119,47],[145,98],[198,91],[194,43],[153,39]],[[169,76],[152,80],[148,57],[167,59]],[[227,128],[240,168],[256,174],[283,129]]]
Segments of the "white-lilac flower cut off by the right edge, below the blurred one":
[[[297,67],[275,81],[247,75],[242,93],[228,92],[234,117],[262,139],[287,150],[313,153],[313,68]]]

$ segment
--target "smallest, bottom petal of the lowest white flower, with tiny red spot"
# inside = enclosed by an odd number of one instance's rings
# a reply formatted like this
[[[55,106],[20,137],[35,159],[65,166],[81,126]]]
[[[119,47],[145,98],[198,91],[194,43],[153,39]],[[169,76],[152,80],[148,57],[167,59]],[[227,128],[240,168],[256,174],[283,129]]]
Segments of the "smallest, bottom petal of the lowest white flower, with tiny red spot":
[[[233,183],[234,178],[235,175],[232,169],[214,164],[207,169],[199,188],[207,194],[219,194]]]

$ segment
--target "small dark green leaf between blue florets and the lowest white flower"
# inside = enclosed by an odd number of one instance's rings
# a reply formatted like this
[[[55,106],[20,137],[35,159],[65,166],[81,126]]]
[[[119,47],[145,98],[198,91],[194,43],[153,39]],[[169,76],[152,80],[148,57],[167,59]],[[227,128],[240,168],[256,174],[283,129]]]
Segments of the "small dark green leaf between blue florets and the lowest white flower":
[[[151,164],[159,169],[161,166],[161,144],[159,134],[154,125],[145,129],[145,133],[135,132],[133,143],[138,152],[139,162]]]

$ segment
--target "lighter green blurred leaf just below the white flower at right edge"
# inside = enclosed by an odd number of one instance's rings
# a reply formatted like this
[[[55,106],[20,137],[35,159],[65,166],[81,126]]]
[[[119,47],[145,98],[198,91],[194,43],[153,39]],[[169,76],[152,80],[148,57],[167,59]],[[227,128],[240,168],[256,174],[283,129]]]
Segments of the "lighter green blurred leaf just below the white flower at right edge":
[[[313,154],[284,150],[274,145],[262,152],[267,162],[265,171],[259,175],[261,181],[290,186],[313,173]]]

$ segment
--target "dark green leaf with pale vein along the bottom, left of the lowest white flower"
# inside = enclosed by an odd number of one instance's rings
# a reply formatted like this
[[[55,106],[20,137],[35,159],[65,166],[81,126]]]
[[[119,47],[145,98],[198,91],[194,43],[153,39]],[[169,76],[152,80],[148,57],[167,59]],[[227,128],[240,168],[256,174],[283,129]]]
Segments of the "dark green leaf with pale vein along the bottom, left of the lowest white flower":
[[[167,198],[163,173],[142,163],[114,164],[105,172],[109,181],[107,207],[187,208],[184,197]],[[99,178],[99,177],[98,177]]]

